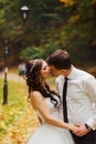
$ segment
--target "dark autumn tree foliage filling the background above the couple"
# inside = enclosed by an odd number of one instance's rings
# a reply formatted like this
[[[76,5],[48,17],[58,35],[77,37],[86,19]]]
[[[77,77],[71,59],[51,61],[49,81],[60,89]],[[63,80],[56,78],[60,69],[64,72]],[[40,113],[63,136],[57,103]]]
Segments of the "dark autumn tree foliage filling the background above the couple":
[[[74,59],[78,54],[85,59],[85,53],[96,53],[96,1],[64,1],[67,4],[58,0],[0,0],[3,6],[0,7],[0,49],[8,39],[10,55],[17,51],[18,59],[25,61],[46,59],[56,49],[77,53],[73,55]],[[25,23],[20,13],[20,8],[24,4],[30,9]],[[1,54],[2,52],[3,49]],[[14,56],[14,61],[18,59]]]

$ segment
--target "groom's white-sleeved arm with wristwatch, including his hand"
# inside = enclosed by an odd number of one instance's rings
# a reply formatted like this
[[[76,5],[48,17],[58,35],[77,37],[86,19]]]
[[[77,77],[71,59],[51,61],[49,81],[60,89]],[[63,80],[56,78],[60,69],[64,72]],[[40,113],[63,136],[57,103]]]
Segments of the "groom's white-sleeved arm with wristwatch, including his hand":
[[[78,136],[84,136],[90,131],[96,130],[96,79],[89,79],[84,82],[84,90],[87,93],[93,105],[93,116],[87,120],[86,124],[78,124],[78,132],[75,132]]]

